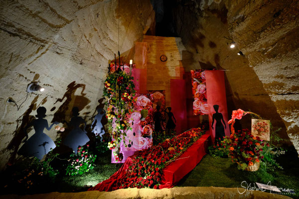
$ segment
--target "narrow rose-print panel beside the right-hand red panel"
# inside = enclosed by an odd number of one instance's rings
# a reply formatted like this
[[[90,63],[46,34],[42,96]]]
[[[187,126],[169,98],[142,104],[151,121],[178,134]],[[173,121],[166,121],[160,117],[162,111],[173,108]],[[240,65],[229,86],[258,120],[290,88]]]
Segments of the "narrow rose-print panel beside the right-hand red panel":
[[[191,70],[192,94],[193,94],[193,115],[208,114],[208,103],[206,93],[205,71]]]

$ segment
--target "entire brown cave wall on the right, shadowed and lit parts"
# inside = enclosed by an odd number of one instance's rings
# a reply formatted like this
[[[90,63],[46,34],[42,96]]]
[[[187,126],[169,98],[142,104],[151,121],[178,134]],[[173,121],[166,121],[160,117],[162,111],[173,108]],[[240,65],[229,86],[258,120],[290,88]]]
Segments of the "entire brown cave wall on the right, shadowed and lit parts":
[[[173,11],[186,47],[183,67],[225,70],[228,112],[242,108],[270,119],[297,150],[298,5],[291,0],[177,0]],[[240,50],[244,56],[237,55]],[[243,128],[249,124],[250,117],[240,122]]]

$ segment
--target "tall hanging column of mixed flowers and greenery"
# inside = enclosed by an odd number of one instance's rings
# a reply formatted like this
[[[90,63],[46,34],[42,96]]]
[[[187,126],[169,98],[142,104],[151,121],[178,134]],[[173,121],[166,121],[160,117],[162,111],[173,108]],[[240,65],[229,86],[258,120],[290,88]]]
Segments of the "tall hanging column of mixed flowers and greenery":
[[[113,63],[110,66],[113,67]],[[122,68],[122,67],[120,67]],[[108,148],[113,150],[116,162],[122,161],[120,153],[121,140],[125,140],[129,128],[128,115],[133,111],[133,97],[135,85],[133,77],[125,71],[110,71],[105,80],[104,98],[107,106],[108,132],[113,140],[108,143]]]

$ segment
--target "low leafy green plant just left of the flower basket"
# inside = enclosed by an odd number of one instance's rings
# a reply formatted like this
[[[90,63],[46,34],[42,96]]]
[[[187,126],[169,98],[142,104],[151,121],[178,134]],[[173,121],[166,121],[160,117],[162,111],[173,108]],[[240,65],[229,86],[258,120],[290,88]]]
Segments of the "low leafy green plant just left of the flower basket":
[[[208,147],[208,151],[211,156],[215,158],[219,157],[228,157],[230,151],[230,139],[229,137],[223,137],[224,140],[221,141],[219,138],[220,144],[211,145]]]

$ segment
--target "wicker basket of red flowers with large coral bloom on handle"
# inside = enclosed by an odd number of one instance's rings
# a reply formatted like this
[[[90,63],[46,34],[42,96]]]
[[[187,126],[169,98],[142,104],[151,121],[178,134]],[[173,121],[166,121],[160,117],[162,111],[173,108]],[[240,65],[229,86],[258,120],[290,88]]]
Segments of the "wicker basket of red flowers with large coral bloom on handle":
[[[249,129],[243,129],[235,132],[234,123],[235,119],[241,119],[246,114],[253,114],[261,118],[258,114],[244,111],[242,109],[234,110],[231,123],[231,143],[230,143],[230,156],[233,162],[238,164],[238,169],[247,171],[258,171],[260,167],[260,160],[263,159],[263,147],[265,142],[258,136],[253,136]]]

